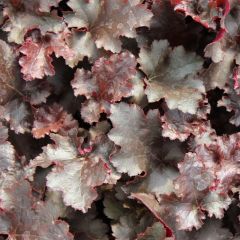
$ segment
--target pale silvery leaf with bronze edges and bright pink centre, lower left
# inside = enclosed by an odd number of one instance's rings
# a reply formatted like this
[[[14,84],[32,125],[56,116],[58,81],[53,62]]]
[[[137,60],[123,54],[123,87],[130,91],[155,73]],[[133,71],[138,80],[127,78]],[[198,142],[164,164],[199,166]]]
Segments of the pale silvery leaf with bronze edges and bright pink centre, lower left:
[[[105,136],[98,136],[83,149],[84,138],[51,134],[54,144],[43,148],[43,153],[30,162],[28,175],[37,166],[54,164],[47,175],[47,186],[63,194],[66,205],[86,212],[97,198],[97,186],[116,183],[119,175],[108,167],[113,143]],[[92,175],[92,173],[95,173]]]

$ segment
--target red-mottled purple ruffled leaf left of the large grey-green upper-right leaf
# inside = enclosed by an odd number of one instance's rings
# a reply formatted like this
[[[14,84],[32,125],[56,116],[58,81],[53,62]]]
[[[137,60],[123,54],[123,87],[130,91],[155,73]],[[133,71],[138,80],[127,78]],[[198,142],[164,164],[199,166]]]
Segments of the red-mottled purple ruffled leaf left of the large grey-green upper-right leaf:
[[[130,97],[136,92],[136,59],[130,52],[112,54],[110,58],[99,58],[92,71],[77,69],[71,85],[75,96],[88,99],[81,109],[86,122],[97,122],[100,113],[109,113],[110,103]]]

